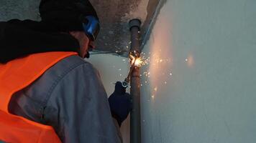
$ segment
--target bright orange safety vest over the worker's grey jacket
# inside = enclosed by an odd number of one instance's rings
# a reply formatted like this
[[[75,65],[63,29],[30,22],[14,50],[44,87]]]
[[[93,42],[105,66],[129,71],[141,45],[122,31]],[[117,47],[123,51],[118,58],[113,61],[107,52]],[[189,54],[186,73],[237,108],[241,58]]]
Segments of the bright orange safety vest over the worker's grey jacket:
[[[52,127],[11,114],[8,105],[15,92],[32,84],[61,59],[75,54],[64,51],[31,54],[0,64],[0,142],[60,142]]]

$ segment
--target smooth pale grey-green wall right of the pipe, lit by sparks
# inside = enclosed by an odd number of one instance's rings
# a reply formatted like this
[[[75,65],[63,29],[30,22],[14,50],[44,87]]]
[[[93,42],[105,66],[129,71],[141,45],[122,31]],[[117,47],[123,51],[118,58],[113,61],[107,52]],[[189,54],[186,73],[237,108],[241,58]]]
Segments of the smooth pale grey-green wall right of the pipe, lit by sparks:
[[[256,142],[256,1],[166,0],[144,47],[142,142]]]

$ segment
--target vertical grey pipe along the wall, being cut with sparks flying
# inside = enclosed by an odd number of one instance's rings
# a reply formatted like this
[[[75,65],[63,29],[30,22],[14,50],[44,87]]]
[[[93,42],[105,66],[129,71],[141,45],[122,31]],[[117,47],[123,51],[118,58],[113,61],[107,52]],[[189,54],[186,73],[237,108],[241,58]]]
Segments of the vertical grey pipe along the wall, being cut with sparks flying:
[[[131,31],[131,50],[130,54],[134,57],[140,56],[140,24],[139,19],[132,19],[129,21]],[[131,74],[131,97],[132,97],[132,110],[131,110],[131,129],[130,129],[130,142],[141,142],[141,126],[140,126],[140,67],[134,66]]]

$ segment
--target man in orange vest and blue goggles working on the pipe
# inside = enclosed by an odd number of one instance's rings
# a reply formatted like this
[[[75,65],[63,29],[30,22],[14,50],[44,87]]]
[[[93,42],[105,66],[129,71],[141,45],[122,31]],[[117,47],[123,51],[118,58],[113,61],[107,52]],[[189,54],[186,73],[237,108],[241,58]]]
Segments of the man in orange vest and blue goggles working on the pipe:
[[[93,6],[42,0],[40,16],[0,23],[0,142],[122,142],[129,95],[116,82],[108,102],[82,59],[99,33]]]

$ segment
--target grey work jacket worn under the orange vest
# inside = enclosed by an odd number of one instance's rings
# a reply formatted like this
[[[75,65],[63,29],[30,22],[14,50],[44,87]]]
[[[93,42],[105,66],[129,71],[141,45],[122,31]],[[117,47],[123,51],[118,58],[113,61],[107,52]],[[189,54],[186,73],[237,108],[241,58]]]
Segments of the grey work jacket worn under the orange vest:
[[[9,112],[52,126],[62,142],[122,142],[98,71],[79,56],[59,61],[17,92]]]

